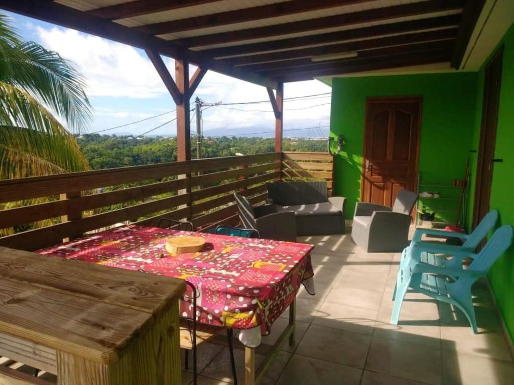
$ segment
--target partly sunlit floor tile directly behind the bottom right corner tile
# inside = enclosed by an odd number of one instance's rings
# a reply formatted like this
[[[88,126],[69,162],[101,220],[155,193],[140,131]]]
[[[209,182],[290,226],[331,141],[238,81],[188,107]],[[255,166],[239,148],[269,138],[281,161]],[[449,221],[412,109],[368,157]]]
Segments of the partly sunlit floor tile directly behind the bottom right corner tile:
[[[441,342],[444,350],[485,358],[512,360],[510,349],[501,330],[473,334],[469,324],[457,326],[442,322]]]

